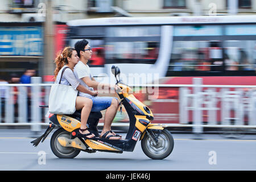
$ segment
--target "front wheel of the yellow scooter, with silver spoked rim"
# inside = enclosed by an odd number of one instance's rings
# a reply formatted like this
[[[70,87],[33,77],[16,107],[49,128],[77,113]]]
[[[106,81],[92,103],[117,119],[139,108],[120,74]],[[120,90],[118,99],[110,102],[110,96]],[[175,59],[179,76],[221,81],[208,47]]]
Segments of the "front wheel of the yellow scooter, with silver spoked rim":
[[[152,130],[155,136],[158,136],[158,131]],[[158,136],[158,143],[154,143],[151,138],[145,134],[141,141],[141,147],[149,158],[164,159],[169,156],[174,149],[174,138],[170,131],[164,129]]]

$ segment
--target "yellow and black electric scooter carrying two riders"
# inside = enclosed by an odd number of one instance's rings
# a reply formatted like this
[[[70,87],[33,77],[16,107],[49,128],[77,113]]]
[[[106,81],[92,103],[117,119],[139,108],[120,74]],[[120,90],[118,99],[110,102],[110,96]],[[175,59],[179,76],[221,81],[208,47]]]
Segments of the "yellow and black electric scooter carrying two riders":
[[[102,117],[100,112],[90,113],[88,119],[88,129],[96,135],[93,139],[84,139],[76,136],[81,125],[81,111],[76,111],[71,115],[50,114],[49,126],[46,132],[31,143],[37,146],[39,142],[48,136],[55,126],[59,126],[51,137],[51,149],[53,154],[59,158],[75,158],[80,151],[85,152],[132,152],[138,140],[141,140],[141,146],[144,154],[151,159],[164,159],[171,154],[174,148],[174,139],[164,126],[152,124],[154,115],[151,110],[142,102],[137,100],[130,93],[131,89],[120,79],[120,69],[112,66],[117,85],[121,90],[117,94],[121,99],[121,104],[125,107],[129,115],[130,126],[126,138],[121,140],[111,140],[100,138],[97,130],[99,119]]]

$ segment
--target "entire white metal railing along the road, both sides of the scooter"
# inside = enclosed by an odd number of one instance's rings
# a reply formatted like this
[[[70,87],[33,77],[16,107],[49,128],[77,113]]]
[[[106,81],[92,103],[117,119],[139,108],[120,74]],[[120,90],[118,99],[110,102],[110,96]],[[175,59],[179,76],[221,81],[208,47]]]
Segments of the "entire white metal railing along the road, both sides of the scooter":
[[[44,115],[48,109],[39,107],[39,105],[48,105],[52,84],[41,84],[40,77],[32,77],[31,81],[32,84],[0,84],[0,90],[5,88],[5,97],[3,98],[5,101],[0,104],[0,126],[31,126],[32,131],[39,131],[42,125],[47,125],[49,121],[48,118],[44,118]],[[189,126],[193,127],[194,133],[202,133],[203,127],[256,128],[256,85],[203,85],[201,78],[193,78],[192,85],[134,84],[129,86],[179,88],[179,123],[167,124],[170,127]],[[18,109],[15,109],[13,103],[15,87],[18,89],[18,99],[16,100]],[[250,90],[245,92],[242,90],[243,88]],[[31,101],[30,105],[28,105],[28,100]],[[15,110],[18,112],[16,118]],[[193,113],[192,125],[188,125],[189,111]],[[203,123],[204,111],[208,113],[207,125]],[[247,116],[247,125],[245,125],[245,115]],[[221,122],[217,117],[221,118]],[[31,121],[28,121],[28,118],[31,118]],[[99,125],[102,124],[99,123]],[[114,125],[129,126],[129,123],[113,123]]]

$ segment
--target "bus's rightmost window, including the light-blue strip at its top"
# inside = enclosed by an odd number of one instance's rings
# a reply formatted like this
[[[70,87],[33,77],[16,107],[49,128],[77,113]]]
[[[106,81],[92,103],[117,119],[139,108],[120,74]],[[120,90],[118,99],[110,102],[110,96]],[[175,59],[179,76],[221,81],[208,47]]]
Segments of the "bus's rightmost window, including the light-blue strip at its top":
[[[224,42],[226,71],[255,71],[256,24],[231,24],[225,26]],[[244,74],[243,74],[244,75]]]

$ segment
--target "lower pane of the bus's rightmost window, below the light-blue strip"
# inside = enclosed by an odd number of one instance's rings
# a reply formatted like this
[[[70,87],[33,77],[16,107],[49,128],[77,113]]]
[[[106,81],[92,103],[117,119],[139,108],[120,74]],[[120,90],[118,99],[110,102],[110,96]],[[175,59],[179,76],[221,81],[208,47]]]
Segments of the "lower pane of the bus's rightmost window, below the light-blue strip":
[[[224,48],[226,71],[255,70],[255,40],[227,40],[224,42]]]

